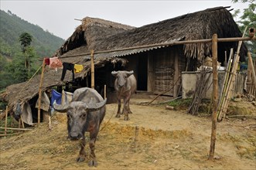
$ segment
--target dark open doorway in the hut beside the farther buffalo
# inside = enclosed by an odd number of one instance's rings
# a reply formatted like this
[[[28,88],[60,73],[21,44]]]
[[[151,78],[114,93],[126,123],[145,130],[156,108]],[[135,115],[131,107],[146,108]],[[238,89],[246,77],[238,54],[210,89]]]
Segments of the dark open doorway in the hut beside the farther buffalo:
[[[138,77],[137,90],[148,90],[148,57],[147,55],[138,56]]]

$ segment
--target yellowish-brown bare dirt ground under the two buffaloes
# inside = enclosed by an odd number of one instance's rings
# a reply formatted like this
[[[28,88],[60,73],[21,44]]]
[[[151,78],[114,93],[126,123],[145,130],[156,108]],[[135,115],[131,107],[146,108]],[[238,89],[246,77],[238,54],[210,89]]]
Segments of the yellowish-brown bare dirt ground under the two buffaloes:
[[[218,123],[215,158],[210,161],[210,117],[166,110],[165,104],[136,103],[131,104],[130,121],[114,117],[117,104],[107,104],[96,142],[97,168],[88,167],[87,160],[76,162],[79,141],[67,140],[66,115],[54,114],[52,131],[43,123],[0,139],[0,169],[256,169],[255,119]]]

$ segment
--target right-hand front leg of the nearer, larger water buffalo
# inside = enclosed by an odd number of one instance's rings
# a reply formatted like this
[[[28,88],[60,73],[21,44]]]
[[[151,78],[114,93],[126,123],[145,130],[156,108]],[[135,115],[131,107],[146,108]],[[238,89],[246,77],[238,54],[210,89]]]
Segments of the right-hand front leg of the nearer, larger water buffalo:
[[[90,142],[89,142],[89,145],[90,145],[90,161],[88,163],[89,166],[97,166],[97,159],[96,159],[96,155],[94,153],[94,149],[95,149],[95,141],[96,141],[96,138],[97,138],[97,131],[98,131],[98,128],[96,131],[93,131],[93,132],[90,132]]]

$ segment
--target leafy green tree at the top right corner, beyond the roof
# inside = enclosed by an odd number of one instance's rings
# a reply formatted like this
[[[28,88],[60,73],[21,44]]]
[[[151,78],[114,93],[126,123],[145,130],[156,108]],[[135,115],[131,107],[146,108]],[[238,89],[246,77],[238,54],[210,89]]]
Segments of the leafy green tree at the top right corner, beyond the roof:
[[[237,21],[237,25],[241,32],[244,32],[245,27],[247,26],[247,30],[249,28],[256,28],[256,3],[255,0],[232,0],[232,2],[243,2],[248,3],[248,8],[244,8],[244,13],[241,15],[240,20]],[[234,16],[237,16],[241,11],[239,9],[234,11]],[[248,34],[248,32],[246,32]],[[253,56],[256,53],[256,42],[246,42],[247,48],[251,51]]]

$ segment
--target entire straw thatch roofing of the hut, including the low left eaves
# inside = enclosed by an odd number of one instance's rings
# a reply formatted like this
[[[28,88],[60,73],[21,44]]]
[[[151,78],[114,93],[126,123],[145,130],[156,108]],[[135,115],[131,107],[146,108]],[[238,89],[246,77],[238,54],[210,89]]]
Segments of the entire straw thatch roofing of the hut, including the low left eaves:
[[[53,56],[59,56],[63,62],[83,64],[85,69],[83,73],[76,74],[76,78],[84,77],[90,70],[90,61],[85,57],[87,56],[86,53],[90,53],[90,49],[94,49],[97,52],[162,42],[210,39],[213,33],[217,33],[218,37],[221,38],[242,36],[232,15],[224,7],[206,9],[140,28],[87,17],[82,20],[82,24],[77,27],[72,36],[64,42],[63,46]],[[231,47],[236,48],[236,46],[237,42],[225,42],[224,46],[220,46],[220,49],[228,51]],[[105,53],[105,55],[103,53],[101,57],[97,56],[95,58],[95,67],[97,68],[97,66],[106,62],[121,62],[125,64],[127,62],[125,59],[116,58],[116,56],[141,53],[157,48],[160,47],[131,50],[128,53],[118,53],[118,55],[114,52]],[[202,60],[211,54],[210,43],[186,44],[183,48],[186,57],[193,59]],[[246,47],[242,45],[242,60],[245,54]],[[46,70],[42,90],[62,85],[64,82],[71,80],[71,73],[67,73],[63,82],[60,81],[60,76],[60,70],[57,73],[55,70]],[[7,87],[2,97],[9,102],[11,110],[18,100],[24,103],[38,95],[39,79],[40,75],[35,76],[29,82]]]

